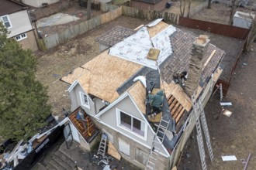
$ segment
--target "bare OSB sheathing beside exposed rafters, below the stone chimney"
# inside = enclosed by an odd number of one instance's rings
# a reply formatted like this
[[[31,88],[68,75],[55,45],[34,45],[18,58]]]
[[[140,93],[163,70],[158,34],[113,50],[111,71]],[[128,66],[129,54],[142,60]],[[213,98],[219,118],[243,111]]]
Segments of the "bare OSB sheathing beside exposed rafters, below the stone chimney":
[[[192,107],[192,101],[178,84],[164,82],[164,90],[167,97],[173,95],[178,103],[182,104],[185,110],[189,111]]]

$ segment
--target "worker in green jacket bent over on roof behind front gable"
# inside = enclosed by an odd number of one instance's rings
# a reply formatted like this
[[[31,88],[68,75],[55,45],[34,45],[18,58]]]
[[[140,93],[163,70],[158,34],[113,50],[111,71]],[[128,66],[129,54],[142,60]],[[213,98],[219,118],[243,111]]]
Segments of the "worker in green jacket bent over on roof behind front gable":
[[[162,111],[163,101],[164,101],[164,91],[159,90],[155,95],[148,92],[150,107],[152,108],[150,115],[155,116]]]

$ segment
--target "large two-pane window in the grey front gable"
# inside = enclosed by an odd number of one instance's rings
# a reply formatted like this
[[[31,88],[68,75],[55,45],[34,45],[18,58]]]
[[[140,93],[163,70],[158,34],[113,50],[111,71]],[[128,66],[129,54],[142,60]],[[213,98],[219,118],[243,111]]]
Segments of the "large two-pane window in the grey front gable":
[[[119,110],[119,124],[120,127],[126,128],[130,131],[133,131],[136,134],[144,137],[145,134],[145,123],[138,120],[135,117],[130,116],[129,114],[124,113]]]

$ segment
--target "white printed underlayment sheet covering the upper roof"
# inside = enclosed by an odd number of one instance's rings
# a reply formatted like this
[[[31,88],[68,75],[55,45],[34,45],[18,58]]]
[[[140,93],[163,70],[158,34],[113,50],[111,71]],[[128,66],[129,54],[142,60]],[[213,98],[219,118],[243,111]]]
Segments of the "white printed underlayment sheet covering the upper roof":
[[[157,23],[161,22],[161,20],[162,19],[156,19],[148,26],[155,26]],[[144,26],[132,36],[129,36],[122,42],[112,46],[109,49],[109,54],[157,70],[158,66],[160,66],[172,53],[169,36],[175,31],[176,29],[174,26],[168,26],[150,39],[147,26]],[[161,50],[157,61],[147,59],[147,54],[150,48]]]

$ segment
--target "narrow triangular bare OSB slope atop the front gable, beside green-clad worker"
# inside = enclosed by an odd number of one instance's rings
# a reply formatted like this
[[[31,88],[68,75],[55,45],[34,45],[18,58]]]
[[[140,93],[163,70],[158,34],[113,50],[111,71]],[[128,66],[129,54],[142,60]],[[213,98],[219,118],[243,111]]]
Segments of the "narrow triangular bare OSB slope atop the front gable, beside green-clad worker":
[[[128,90],[130,93],[130,96],[133,97],[133,100],[137,104],[137,107],[139,107],[140,111],[145,114],[146,112],[146,105],[145,105],[145,100],[146,100],[146,90],[145,87],[140,81],[137,81],[133,85],[133,87]]]

